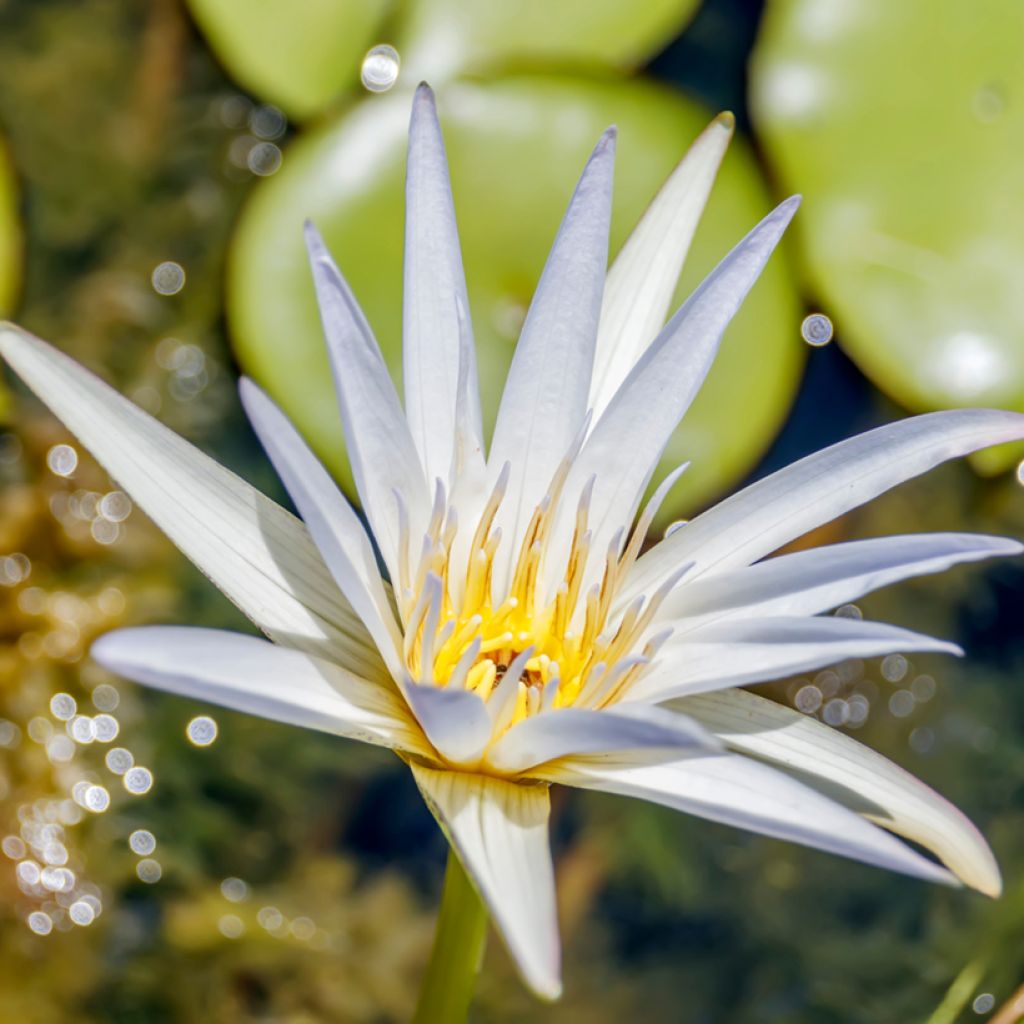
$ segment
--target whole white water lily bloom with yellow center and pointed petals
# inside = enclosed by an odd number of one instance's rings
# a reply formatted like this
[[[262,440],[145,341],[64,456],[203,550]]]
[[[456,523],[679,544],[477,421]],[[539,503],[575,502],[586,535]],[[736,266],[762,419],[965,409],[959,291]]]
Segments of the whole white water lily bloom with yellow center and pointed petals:
[[[130,629],[100,639],[95,657],[175,693],[394,749],[543,996],[560,986],[552,782],[999,891],[984,840],[941,797],[848,736],[737,687],[848,657],[956,652],[819,614],[897,580],[1019,553],[1016,541],[918,535],[760,559],[943,460],[1024,437],[1024,417],[962,410],[882,427],[760,480],[640,555],[677,472],[629,532],[663,446],[796,210],[790,200],[766,217],[662,327],[730,134],[723,117],[700,136],[607,278],[614,134],[598,142],[484,456],[443,146],[432,95],[420,89],[404,410],[308,229],[373,540],[251,382],[243,401],[304,525],[67,356],[16,328],[0,332],[25,381],[270,639]]]

